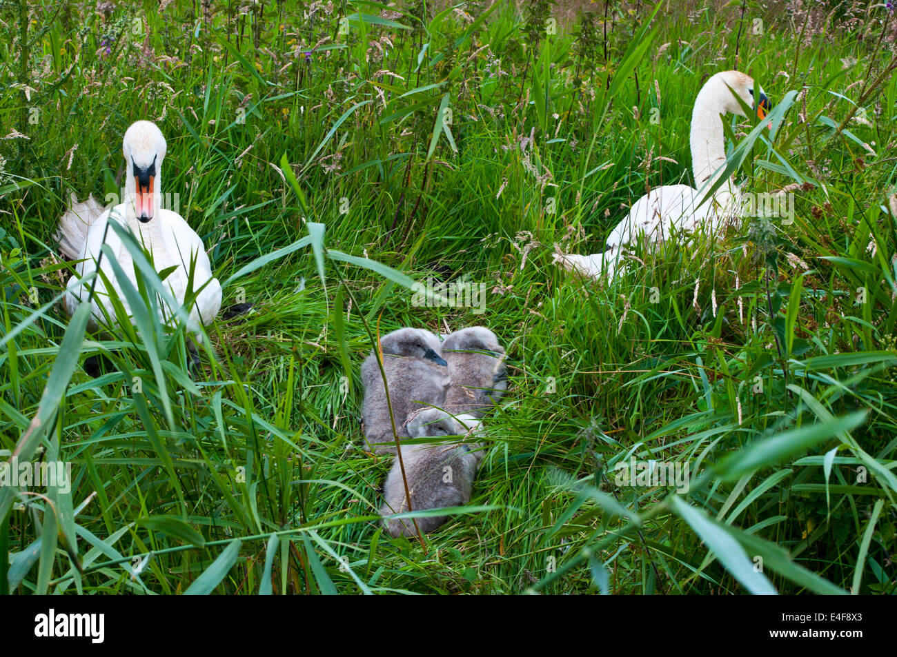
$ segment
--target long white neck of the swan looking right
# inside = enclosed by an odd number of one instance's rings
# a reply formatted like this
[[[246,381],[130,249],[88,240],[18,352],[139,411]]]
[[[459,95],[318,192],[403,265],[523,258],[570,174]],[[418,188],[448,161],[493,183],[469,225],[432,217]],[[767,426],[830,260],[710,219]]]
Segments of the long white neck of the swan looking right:
[[[723,121],[719,115],[726,111],[731,93],[723,82],[712,80],[704,85],[694,102],[692,171],[694,186],[701,192],[701,196],[704,190],[710,189],[718,180],[723,173],[722,169],[726,167],[726,142]],[[732,207],[740,194],[740,190],[730,179],[727,184],[718,188],[713,198],[723,207]]]

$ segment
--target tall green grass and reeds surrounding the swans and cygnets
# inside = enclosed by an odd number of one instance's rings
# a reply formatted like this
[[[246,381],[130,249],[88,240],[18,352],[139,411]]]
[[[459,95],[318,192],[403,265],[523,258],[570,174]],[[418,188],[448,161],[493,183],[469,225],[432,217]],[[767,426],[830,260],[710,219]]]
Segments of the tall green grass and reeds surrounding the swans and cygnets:
[[[552,35],[538,3],[410,2],[409,29],[361,1],[2,4],[0,458],[74,481],[0,488],[0,592],[893,593],[897,18],[830,4],[622,5],[606,39],[602,3]],[[734,67],[784,110],[773,141],[729,122],[737,177],[799,187],[794,223],[642,251],[612,286],[558,270],[555,243],[593,252],[691,181],[694,97]],[[196,373],[177,323],[85,334],[53,303],[63,199],[117,189],[138,118],[225,305],[254,304]],[[483,315],[406,287],[461,276]],[[469,513],[389,540],[370,336],[473,324],[512,363]],[[690,490],[615,485],[631,455]]]

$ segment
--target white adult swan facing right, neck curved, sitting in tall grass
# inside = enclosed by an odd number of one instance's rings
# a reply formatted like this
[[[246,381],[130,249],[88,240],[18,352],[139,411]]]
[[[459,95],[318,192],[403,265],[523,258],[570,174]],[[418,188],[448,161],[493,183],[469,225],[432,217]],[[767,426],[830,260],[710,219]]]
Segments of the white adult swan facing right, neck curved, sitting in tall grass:
[[[704,196],[726,167],[726,143],[720,115],[745,116],[736,95],[760,118],[769,111],[770,100],[745,73],[723,71],[704,84],[692,111],[692,172],[697,189],[687,185],[652,189],[632,205],[626,218],[611,231],[604,253],[571,255],[559,251],[554,254],[554,261],[589,278],[606,275],[613,279],[616,273],[623,271],[620,261],[626,246],[635,246],[642,240],[663,243],[675,231],[703,229],[713,234],[734,220],[742,196],[731,178],[719,186],[711,198],[704,201]]]

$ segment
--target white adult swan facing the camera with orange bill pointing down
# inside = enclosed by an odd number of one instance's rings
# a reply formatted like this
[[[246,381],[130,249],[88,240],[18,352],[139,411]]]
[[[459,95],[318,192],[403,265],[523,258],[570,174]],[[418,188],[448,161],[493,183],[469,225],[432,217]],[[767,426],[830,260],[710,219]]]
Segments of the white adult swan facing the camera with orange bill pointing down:
[[[196,333],[197,341],[201,340],[202,335],[199,333],[197,323],[210,324],[218,315],[222,305],[222,288],[212,275],[212,266],[208,255],[205,254],[203,240],[177,212],[161,207],[161,166],[162,160],[165,159],[165,137],[150,121],[137,121],[127,129],[122,151],[126,160],[123,202],[104,210],[92,196],[83,203],[74,203],[73,195],[72,206],[59,220],[57,239],[60,252],[71,260],[81,261],[76,265],[77,274],[66,286],[68,292],[65,295],[65,309],[69,315],[74,314],[82,301],[90,297],[91,287],[95,285],[91,328],[103,323],[106,314],[115,317],[102,279],[98,276],[84,285],[80,279],[96,271],[105,234],[106,244],[109,245],[113,257],[126,276],[135,283],[131,255],[115,231],[107,230],[110,220],[118,221],[118,224],[130,229],[137,241],[152,255],[152,263],[157,272],[175,267],[163,283],[180,305],[184,304],[188,296],[187,282],[191,266],[194,268],[193,285],[192,290],[189,290],[189,296],[196,290],[201,291],[189,308],[191,324],[188,328]],[[196,264],[192,264],[193,261],[196,261]],[[119,281],[109,263],[109,255],[104,255],[100,259],[100,270],[109,278],[128,315],[131,315]],[[170,319],[173,313],[171,308],[162,302],[159,315],[164,322]]]

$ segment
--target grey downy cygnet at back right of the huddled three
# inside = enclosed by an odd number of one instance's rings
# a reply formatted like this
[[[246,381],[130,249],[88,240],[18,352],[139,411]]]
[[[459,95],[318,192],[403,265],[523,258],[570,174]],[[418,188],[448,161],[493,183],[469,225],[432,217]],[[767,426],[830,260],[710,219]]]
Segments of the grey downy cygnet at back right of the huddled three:
[[[505,350],[495,333],[485,326],[451,333],[442,343],[442,358],[451,377],[442,408],[452,415],[482,418],[508,387]]]

